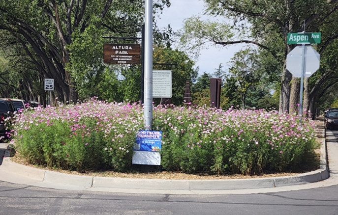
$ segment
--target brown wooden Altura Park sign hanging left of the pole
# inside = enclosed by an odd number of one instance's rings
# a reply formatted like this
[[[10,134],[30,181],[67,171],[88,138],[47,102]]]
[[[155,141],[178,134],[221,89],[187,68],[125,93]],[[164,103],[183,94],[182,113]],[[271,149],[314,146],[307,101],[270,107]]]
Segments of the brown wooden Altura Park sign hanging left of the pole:
[[[140,45],[103,44],[103,62],[109,64],[140,64]]]

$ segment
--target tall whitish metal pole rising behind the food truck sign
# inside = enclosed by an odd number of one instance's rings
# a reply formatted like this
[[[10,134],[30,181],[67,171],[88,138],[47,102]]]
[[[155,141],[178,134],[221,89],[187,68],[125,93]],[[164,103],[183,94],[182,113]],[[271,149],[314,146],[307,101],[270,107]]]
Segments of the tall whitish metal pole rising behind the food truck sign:
[[[144,60],[144,126],[153,124],[153,0],[145,4],[145,60]]]

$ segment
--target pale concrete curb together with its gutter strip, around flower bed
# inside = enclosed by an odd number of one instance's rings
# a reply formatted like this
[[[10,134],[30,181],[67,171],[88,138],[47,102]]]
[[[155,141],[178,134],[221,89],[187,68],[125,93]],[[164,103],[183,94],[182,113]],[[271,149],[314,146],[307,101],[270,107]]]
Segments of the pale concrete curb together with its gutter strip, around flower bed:
[[[338,134],[328,131],[327,141],[325,141],[323,121],[317,123],[319,124],[317,137],[323,143],[320,169],[295,176],[230,180],[155,180],[78,176],[20,165],[10,161],[7,150],[6,158],[0,165],[0,180],[44,188],[166,194],[264,193],[337,185]],[[0,148],[7,148],[7,145],[0,143]],[[330,166],[330,178],[327,163]]]

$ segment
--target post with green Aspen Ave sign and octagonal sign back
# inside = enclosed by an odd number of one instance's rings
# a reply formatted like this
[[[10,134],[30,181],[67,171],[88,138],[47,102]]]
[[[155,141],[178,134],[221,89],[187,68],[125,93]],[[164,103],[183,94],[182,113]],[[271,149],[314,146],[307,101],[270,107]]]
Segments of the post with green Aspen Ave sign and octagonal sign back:
[[[311,43],[320,43],[321,33],[298,32],[288,33],[287,44],[299,44],[286,56],[286,69],[296,78],[301,78],[299,123],[302,123],[303,113],[303,83],[319,69],[320,55],[311,47]],[[300,52],[301,51],[301,52]],[[300,60],[301,58],[301,60]],[[301,67],[301,71],[299,70]]]

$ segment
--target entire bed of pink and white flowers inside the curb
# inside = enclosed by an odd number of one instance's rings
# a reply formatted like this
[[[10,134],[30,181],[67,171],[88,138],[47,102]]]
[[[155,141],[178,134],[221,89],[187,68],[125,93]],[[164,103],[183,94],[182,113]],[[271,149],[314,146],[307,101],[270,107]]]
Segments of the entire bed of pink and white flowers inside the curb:
[[[143,109],[92,99],[24,111],[14,127],[17,150],[30,163],[128,171]],[[295,116],[277,111],[156,107],[153,130],[163,134],[162,167],[184,173],[292,170],[317,147],[310,123],[298,125]]]

